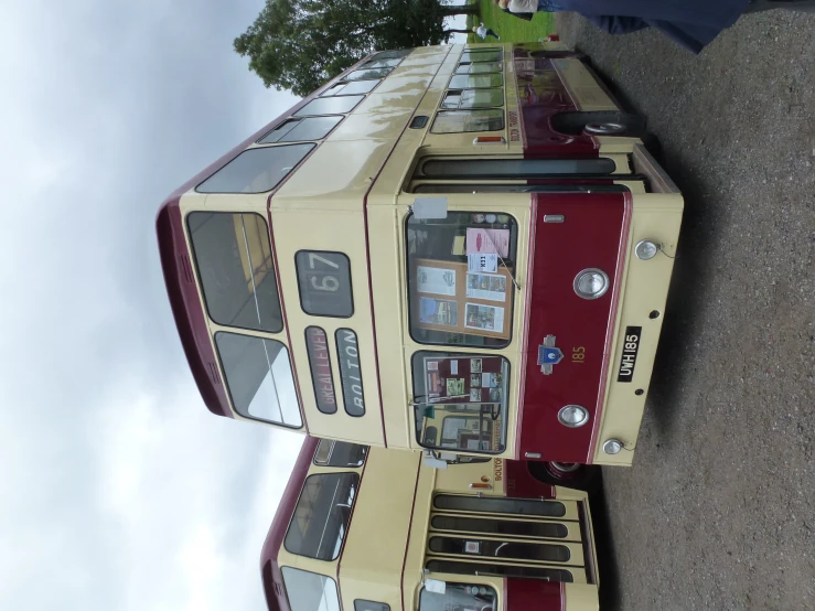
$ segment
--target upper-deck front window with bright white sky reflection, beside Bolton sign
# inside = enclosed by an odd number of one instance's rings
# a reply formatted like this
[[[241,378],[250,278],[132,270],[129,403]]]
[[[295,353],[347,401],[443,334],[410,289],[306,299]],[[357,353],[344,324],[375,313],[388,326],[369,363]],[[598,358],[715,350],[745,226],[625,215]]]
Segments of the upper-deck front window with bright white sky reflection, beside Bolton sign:
[[[289,351],[283,344],[218,332],[215,345],[238,414],[287,427],[302,426]]]

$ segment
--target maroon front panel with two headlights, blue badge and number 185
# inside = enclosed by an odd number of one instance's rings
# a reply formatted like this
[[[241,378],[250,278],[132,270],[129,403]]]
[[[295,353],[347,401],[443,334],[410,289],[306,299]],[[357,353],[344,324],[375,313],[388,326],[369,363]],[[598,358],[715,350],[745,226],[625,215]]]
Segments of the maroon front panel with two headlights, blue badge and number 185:
[[[519,455],[538,452],[541,460],[583,463],[598,414],[605,337],[618,281],[624,194],[536,193],[533,197],[537,217]],[[566,221],[544,223],[546,214],[561,214]],[[588,268],[599,268],[609,276],[610,287],[599,299],[582,299],[575,292],[575,278]],[[555,335],[564,353],[551,375],[544,375],[537,363],[538,346],[546,335]],[[571,429],[558,422],[558,411],[570,404],[589,410],[588,424]]]

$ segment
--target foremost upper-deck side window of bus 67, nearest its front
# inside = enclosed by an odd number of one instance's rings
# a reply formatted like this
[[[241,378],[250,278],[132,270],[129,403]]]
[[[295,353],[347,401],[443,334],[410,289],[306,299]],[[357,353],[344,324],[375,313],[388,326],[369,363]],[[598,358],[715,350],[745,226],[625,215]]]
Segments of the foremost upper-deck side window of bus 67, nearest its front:
[[[262,193],[275,189],[314,144],[260,147],[242,152],[202,182],[199,193]]]

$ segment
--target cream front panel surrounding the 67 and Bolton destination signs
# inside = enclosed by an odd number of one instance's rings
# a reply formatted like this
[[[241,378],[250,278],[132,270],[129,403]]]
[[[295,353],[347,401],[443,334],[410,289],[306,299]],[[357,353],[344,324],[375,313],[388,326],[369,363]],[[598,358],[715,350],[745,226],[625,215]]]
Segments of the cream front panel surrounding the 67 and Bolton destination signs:
[[[274,202],[274,199],[272,199]],[[300,379],[303,411],[309,431],[317,437],[331,437],[362,443],[383,444],[382,411],[377,384],[376,358],[373,350],[371,299],[368,293],[367,253],[365,250],[365,218],[358,212],[339,210],[320,215],[311,211],[294,210],[296,205],[279,204],[282,210],[272,212],[275,247],[277,249],[280,288],[287,296],[286,314],[292,341],[292,355]],[[350,203],[348,203],[350,205]],[[344,206],[347,207],[347,206]],[[287,210],[288,208],[288,210]],[[348,237],[358,236],[358,239]],[[351,285],[354,313],[351,318],[315,317],[300,307],[294,255],[299,250],[330,250],[343,253],[351,265]],[[305,328],[320,326],[329,336],[334,392],[340,407],[335,414],[323,414],[317,408],[308,353]],[[334,333],[337,329],[352,329],[357,335],[365,415],[352,417],[345,412],[340,377],[340,358]]]

